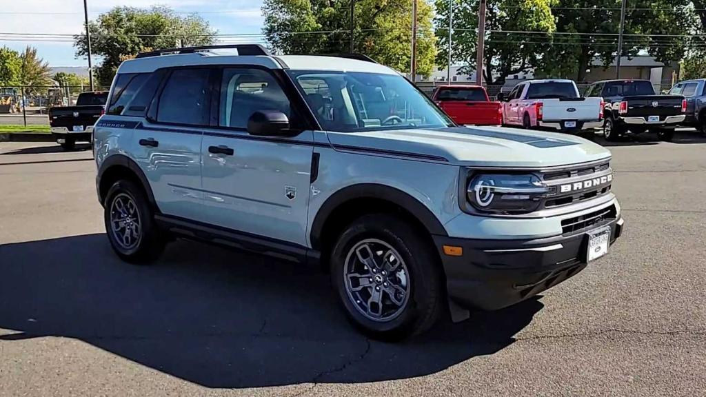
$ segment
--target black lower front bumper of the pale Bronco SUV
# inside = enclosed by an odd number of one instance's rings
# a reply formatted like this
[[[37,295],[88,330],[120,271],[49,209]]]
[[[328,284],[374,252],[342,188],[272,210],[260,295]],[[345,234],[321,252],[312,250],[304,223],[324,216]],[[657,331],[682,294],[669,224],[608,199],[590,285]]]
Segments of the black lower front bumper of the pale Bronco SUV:
[[[587,266],[588,233],[610,227],[610,244],[623,232],[613,218],[572,235],[532,240],[479,240],[434,236],[448,297],[464,307],[501,309],[570,278]],[[443,246],[461,247],[449,256]]]

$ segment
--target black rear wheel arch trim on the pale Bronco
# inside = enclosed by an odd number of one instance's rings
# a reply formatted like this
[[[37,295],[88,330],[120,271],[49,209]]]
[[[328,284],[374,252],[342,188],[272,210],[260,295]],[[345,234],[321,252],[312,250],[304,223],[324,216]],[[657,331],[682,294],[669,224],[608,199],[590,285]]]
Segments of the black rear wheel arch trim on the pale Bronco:
[[[101,204],[105,201],[105,196],[110,189],[110,186],[119,179],[130,179],[136,182],[147,195],[148,201],[152,208],[157,209],[155,195],[152,194],[152,188],[148,182],[145,173],[140,169],[140,166],[126,155],[112,155],[103,160],[98,169],[97,189],[98,200]]]

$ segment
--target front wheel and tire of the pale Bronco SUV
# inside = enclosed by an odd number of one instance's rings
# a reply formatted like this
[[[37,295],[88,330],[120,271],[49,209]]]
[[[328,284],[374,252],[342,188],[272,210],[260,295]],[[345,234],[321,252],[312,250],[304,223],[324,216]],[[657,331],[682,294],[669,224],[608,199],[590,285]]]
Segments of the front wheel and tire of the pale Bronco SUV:
[[[393,215],[364,215],[338,238],[331,278],[354,326],[371,338],[400,340],[427,331],[438,319],[443,302],[438,261],[434,247],[409,223]],[[374,304],[376,293],[381,304]]]

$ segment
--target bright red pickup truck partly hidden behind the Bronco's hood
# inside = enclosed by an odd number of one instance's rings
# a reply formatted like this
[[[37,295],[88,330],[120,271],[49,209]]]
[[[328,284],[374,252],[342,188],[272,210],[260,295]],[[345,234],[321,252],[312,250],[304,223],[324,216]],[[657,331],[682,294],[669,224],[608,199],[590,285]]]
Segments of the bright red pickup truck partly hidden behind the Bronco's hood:
[[[431,100],[457,124],[503,124],[501,103],[491,102],[485,88],[478,85],[440,85],[431,94]]]

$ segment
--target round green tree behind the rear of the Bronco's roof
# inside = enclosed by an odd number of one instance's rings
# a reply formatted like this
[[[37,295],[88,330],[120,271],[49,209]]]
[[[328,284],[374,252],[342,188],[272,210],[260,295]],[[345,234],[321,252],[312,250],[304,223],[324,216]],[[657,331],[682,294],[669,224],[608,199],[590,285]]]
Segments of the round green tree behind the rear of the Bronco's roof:
[[[196,15],[179,16],[170,8],[115,7],[88,23],[91,49],[103,58],[97,67],[100,85],[110,85],[122,61],[151,49],[210,45],[216,31]],[[85,34],[74,37],[77,57],[88,56]]]

